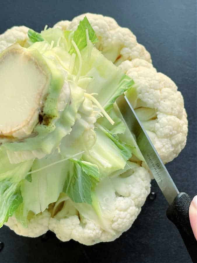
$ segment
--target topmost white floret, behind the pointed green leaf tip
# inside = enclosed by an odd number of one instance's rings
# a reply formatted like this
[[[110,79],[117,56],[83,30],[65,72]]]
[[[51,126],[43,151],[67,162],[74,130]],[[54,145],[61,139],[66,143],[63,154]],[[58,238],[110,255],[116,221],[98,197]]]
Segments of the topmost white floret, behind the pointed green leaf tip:
[[[86,13],[75,17],[70,23],[60,21],[54,27],[62,30],[76,30],[79,22],[87,17],[99,41],[97,49],[116,65],[124,60],[141,58],[151,63],[151,56],[144,46],[137,43],[135,35],[128,29],[120,27],[114,18]]]

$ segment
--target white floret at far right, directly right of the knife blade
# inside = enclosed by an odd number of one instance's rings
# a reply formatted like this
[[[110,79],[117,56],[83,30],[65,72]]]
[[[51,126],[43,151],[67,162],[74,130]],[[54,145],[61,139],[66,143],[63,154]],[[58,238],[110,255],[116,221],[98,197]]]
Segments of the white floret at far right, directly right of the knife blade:
[[[182,94],[145,60],[124,61],[120,67],[135,82],[137,94],[130,99],[156,150],[164,163],[172,161],[184,148],[188,131]]]

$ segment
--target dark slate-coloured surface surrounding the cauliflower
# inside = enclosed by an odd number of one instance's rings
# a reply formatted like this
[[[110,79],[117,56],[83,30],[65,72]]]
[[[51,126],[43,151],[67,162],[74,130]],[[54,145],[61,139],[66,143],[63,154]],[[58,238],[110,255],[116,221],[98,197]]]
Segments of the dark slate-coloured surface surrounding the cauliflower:
[[[40,31],[46,24],[53,26],[85,12],[112,16],[130,28],[151,53],[157,70],[172,78],[182,92],[189,120],[187,145],[167,168],[178,189],[193,197],[197,192],[196,1],[1,1],[0,34],[13,25]],[[4,226],[0,262],[191,262],[177,229],[166,218],[168,204],[155,181],[152,191],[156,199],[147,198],[131,229],[111,243],[89,247],[73,240],[62,243],[50,232],[42,238],[25,238]]]

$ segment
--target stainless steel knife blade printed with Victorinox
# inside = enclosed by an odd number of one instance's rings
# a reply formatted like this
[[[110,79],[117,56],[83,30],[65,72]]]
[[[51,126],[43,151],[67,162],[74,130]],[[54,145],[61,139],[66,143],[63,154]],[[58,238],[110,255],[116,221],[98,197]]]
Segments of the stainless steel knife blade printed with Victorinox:
[[[147,132],[143,128],[140,120],[138,119],[133,107],[126,98],[126,96],[121,95],[116,103],[121,111],[121,114],[130,129],[130,131],[135,135],[137,145],[147,162],[158,186],[160,187],[163,195],[169,204],[171,204],[174,198],[179,193],[175,183],[173,182],[168,170],[163,164],[161,158],[159,157],[154,145],[152,144]]]

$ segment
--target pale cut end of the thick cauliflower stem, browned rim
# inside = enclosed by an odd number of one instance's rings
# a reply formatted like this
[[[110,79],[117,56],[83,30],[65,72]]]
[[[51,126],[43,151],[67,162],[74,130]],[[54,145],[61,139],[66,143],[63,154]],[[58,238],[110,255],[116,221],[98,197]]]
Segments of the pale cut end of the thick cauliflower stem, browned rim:
[[[48,89],[49,70],[26,50],[15,44],[0,56],[0,83],[4,87],[0,136],[21,138],[31,134]]]

